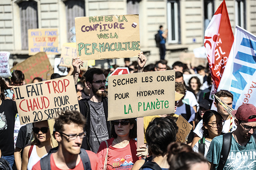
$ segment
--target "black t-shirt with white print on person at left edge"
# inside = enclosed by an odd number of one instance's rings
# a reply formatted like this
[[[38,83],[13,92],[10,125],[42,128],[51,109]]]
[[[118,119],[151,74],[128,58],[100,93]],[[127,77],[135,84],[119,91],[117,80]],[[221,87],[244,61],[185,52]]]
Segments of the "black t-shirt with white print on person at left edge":
[[[13,100],[2,100],[0,105],[0,149],[3,156],[14,154],[14,123],[17,111]]]

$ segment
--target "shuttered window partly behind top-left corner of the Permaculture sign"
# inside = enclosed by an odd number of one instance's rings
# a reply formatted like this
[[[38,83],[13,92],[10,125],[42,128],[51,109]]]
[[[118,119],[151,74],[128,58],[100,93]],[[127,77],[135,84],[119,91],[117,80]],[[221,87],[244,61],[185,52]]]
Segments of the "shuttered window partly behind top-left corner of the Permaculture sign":
[[[74,34],[75,17],[85,16],[85,4],[83,0],[68,0],[68,1],[65,1],[65,6],[66,6],[68,42],[75,42],[75,34]]]

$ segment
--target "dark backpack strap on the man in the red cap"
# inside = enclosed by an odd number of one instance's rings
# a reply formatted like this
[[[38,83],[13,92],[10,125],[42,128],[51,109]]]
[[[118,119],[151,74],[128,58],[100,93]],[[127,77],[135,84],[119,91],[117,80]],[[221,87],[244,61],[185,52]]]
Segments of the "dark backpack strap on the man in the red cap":
[[[223,170],[227,157],[229,156],[230,147],[232,141],[232,133],[226,133],[223,135],[222,149],[220,155],[220,161],[217,170]]]

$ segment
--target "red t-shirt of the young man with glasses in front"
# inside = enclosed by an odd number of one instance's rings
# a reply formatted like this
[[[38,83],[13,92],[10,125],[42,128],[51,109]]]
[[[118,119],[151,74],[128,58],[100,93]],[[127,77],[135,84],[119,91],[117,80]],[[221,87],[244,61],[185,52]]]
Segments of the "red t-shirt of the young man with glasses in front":
[[[90,162],[91,162],[91,168],[92,170],[98,170],[99,169],[99,159],[97,158],[96,154],[94,152],[91,151],[87,151],[87,154],[90,158]],[[56,165],[55,165],[55,161],[51,155],[51,169],[52,170],[61,170],[59,169]],[[75,168],[73,169],[68,169],[68,170],[83,170],[83,162],[80,159],[79,163],[77,166],[75,166]],[[38,161],[32,168],[32,170],[41,170],[41,166],[40,166],[40,161]]]

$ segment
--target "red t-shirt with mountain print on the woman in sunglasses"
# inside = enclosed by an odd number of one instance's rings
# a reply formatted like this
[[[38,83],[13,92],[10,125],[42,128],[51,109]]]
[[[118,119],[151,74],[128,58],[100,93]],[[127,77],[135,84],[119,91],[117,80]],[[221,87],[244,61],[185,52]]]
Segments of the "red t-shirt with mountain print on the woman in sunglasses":
[[[114,138],[108,139],[108,160],[107,170],[131,170],[133,164],[139,160],[137,154],[137,142],[131,139],[129,144],[124,148],[114,148],[111,146]],[[97,156],[99,158],[99,169],[103,170],[105,156],[107,154],[107,145],[101,142]]]

